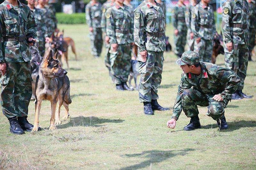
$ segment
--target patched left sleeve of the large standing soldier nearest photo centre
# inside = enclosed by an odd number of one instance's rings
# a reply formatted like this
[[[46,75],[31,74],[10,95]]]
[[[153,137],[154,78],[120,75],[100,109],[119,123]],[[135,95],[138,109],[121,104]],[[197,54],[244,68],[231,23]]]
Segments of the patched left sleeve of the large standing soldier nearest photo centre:
[[[140,9],[134,11],[134,43],[138,46],[139,51],[146,51],[145,38],[144,38],[144,17]]]

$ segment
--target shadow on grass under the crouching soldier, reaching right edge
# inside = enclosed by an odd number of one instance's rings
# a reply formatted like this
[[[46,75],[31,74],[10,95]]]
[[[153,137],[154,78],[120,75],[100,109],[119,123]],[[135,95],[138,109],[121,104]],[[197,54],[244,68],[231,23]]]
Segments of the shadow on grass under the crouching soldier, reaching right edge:
[[[227,122],[228,123],[228,129],[221,130],[223,132],[231,132],[240,128],[247,128],[247,127],[256,127],[256,121],[234,121],[234,122]],[[211,128],[217,128],[217,122],[215,124],[209,124],[202,126],[202,129],[211,129]]]

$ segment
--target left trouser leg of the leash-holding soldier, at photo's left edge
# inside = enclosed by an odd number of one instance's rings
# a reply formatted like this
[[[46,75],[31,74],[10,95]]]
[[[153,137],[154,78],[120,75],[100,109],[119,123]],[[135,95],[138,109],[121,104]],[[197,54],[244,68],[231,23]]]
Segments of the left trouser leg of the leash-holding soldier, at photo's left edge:
[[[0,79],[2,85],[1,107],[3,114],[7,118],[11,118],[18,115],[13,103],[13,89],[20,71],[20,63],[6,63],[6,66],[6,73]]]

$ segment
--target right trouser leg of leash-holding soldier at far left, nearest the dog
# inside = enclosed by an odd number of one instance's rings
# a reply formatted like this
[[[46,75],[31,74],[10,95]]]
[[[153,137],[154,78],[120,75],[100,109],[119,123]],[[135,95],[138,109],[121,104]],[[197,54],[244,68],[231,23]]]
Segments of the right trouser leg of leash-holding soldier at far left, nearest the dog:
[[[18,117],[28,115],[28,105],[32,95],[31,84],[31,66],[29,62],[20,63],[20,71],[17,75],[17,81],[14,86],[13,98],[15,110]]]

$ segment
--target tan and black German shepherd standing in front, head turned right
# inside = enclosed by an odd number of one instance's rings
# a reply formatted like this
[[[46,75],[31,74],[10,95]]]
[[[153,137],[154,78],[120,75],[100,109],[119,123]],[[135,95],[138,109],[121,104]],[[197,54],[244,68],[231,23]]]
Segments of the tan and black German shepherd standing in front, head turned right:
[[[63,105],[66,113],[63,118],[69,116],[68,105],[70,99],[70,83],[67,71],[61,68],[58,61],[58,51],[52,56],[52,50],[44,61],[40,64],[39,73],[36,78],[36,101],[35,101],[35,123],[32,131],[38,131],[39,114],[43,100],[50,100],[52,115],[50,119],[50,129],[56,129],[55,124],[61,124],[60,107]],[[58,114],[55,116],[57,102],[59,102]]]

